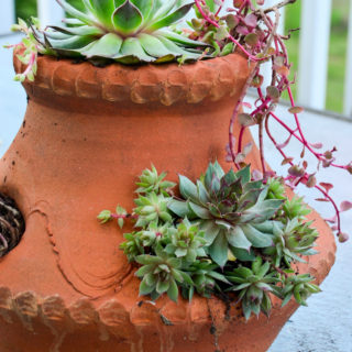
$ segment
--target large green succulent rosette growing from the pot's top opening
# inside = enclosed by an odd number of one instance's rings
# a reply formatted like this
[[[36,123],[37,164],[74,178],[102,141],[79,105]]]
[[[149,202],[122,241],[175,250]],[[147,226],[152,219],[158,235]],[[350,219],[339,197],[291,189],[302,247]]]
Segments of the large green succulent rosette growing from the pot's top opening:
[[[56,0],[69,26],[35,30],[47,54],[94,63],[165,63],[198,59],[207,44],[173,30],[191,9],[190,0],[82,0],[85,12]]]

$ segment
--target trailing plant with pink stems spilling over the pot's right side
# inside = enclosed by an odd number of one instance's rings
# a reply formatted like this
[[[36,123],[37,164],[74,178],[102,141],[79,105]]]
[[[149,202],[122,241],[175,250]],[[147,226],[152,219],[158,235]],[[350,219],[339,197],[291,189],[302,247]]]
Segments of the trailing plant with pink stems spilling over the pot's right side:
[[[276,173],[268,170],[265,163],[264,153],[264,132],[283,157],[283,165],[287,165],[287,176],[284,177],[285,184],[292,188],[298,185],[306,185],[308,188],[317,189],[322,197],[318,201],[330,202],[334,210],[334,216],[327,219],[332,223],[332,230],[337,232],[340,242],[345,242],[349,234],[342,232],[341,212],[350,210],[352,202],[343,201],[340,206],[336,204],[330,195],[333,185],[326,182],[318,183],[317,174],[320,168],[334,167],[344,169],[352,174],[352,162],[346,165],[336,163],[337,148],[326,150],[322,143],[311,143],[306,139],[302,132],[298,116],[304,111],[302,108],[295,105],[290,86],[294,81],[289,80],[292,65],[288,59],[285,41],[288,35],[282,35],[277,32],[279,23],[279,9],[294,3],[296,0],[283,0],[271,8],[263,8],[265,0],[234,0],[233,8],[226,9],[224,1],[216,0],[195,0],[197,19],[194,19],[190,25],[194,29],[191,37],[198,41],[211,43],[216,47],[216,53],[221,55],[229,45],[234,45],[249,58],[249,63],[254,63],[255,68],[249,77],[242,97],[235,102],[235,107],[229,124],[229,144],[227,145],[227,161],[233,163],[238,169],[245,164],[245,157],[249,154],[249,145],[243,145],[244,131],[253,125],[257,127],[260,154],[262,169],[254,170],[255,178],[268,179],[277,177]],[[274,19],[271,16],[274,15]],[[215,53],[213,53],[215,54]],[[272,79],[268,86],[264,86],[262,64],[270,62],[272,64]],[[257,99],[255,107],[244,102],[248,88],[256,90]],[[284,91],[287,91],[290,108],[287,113],[293,117],[295,128],[290,128],[283,118],[275,114],[274,110]],[[241,108],[252,110],[249,113],[241,113]],[[239,140],[233,136],[233,128],[238,119],[241,131]],[[275,121],[287,133],[283,142],[278,142],[273,135],[270,122]],[[297,140],[302,151],[299,156],[286,154],[285,147],[290,141]],[[309,153],[317,160],[314,168],[308,168],[306,154]]]

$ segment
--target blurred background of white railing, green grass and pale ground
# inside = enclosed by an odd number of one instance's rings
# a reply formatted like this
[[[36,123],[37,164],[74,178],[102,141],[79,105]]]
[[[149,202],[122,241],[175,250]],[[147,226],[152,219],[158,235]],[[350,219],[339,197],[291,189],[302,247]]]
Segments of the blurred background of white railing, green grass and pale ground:
[[[81,7],[81,0],[67,1]],[[54,0],[1,0],[1,6],[0,45],[20,41],[19,34],[9,31],[15,16],[40,15],[53,23],[63,15]],[[294,91],[298,103],[307,107],[301,114],[304,131],[311,142],[322,142],[327,148],[336,145],[340,151],[339,161],[348,163],[352,160],[352,0],[297,0],[286,8],[283,18],[285,34],[301,28],[292,33],[287,47],[293,63],[292,78],[297,74],[299,86],[299,89],[294,86]],[[0,156],[15,136],[26,108],[24,90],[13,81],[13,76],[11,51],[0,50]],[[253,101],[251,97],[246,99]],[[279,116],[289,119],[285,103],[277,110]],[[278,138],[283,134],[278,127],[273,125],[273,131]],[[252,132],[256,135],[255,129]],[[285,173],[275,148],[270,143],[266,145],[266,158],[272,167],[279,174]],[[299,154],[299,145],[293,143],[287,153]],[[352,177],[346,173],[324,169],[319,182],[334,184],[331,195],[338,204],[352,201]],[[299,193],[323,217],[331,217],[329,205],[314,201],[317,194],[306,188]],[[352,237],[352,213],[343,213],[342,219],[344,231]],[[337,262],[321,286],[323,292],[309,298],[308,308],[298,309],[270,352],[352,352],[351,254],[352,240],[338,243]]]

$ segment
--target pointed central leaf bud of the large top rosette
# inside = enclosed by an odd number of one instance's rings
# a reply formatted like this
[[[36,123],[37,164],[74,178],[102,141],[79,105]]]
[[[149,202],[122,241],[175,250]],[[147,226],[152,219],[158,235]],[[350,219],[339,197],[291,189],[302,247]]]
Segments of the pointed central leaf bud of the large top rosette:
[[[114,29],[123,34],[136,32],[142,22],[141,11],[130,0],[125,0],[112,14]]]

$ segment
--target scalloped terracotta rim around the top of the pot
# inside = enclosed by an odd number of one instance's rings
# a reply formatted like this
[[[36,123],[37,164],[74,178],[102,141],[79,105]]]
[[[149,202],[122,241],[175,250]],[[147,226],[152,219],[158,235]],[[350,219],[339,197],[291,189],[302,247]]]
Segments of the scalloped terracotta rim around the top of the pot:
[[[76,64],[73,59],[53,56],[40,56],[37,64],[35,81],[26,81],[25,86],[53,90],[58,96],[139,105],[160,102],[164,106],[232,97],[237,92],[238,77],[248,76],[255,66],[254,63],[249,65],[248,58],[240,53],[184,65],[110,64],[96,67],[88,62]],[[14,68],[16,73],[25,69],[16,55]]]

